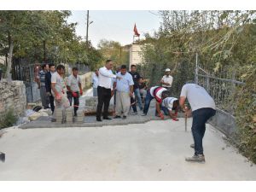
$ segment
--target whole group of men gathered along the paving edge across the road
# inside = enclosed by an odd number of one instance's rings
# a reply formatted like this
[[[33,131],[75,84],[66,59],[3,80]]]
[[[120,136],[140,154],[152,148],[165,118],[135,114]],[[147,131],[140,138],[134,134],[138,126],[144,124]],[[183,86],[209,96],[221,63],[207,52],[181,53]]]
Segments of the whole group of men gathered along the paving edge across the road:
[[[170,74],[171,70],[167,68],[165,76],[160,80],[162,86],[153,86],[148,90],[143,89],[141,91],[142,77],[137,73],[136,66],[131,66],[131,71],[127,72],[127,67],[122,65],[115,74],[113,74],[112,68],[113,61],[108,60],[105,66],[96,70],[96,73],[92,76],[93,96],[98,96],[96,121],[111,119],[108,117],[108,107],[113,95],[115,95],[116,103],[114,119],[126,119],[131,108],[137,113],[136,103],[143,112],[142,115],[145,116],[148,113],[150,102],[155,99],[155,115],[159,116],[160,119],[164,119],[164,114],[166,114],[177,121],[179,109],[186,116],[192,114],[191,130],[194,143],[190,147],[195,148],[195,154],[186,158],[186,160],[204,162],[202,139],[206,131],[207,120],[216,113],[215,102],[212,96],[207,93],[207,90],[198,84],[184,84],[179,99],[172,97],[173,78]],[[50,104],[53,113],[52,121],[55,121],[55,108],[69,108],[72,106],[72,102],[74,115],[76,116],[79,108],[79,96],[83,95],[78,68],[73,67],[73,73],[66,81],[64,80],[64,74],[65,67],[63,65],[58,65],[56,71],[55,65],[43,65],[39,72],[38,88],[40,88],[42,105],[44,108],[49,108]],[[145,88],[144,85],[143,88]],[[186,107],[186,99],[191,109]]]

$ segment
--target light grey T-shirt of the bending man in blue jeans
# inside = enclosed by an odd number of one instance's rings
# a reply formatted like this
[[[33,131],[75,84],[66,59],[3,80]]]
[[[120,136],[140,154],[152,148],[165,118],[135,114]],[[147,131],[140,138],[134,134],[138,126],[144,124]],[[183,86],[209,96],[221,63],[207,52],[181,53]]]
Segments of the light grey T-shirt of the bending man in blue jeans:
[[[184,84],[180,96],[188,98],[192,111],[199,108],[216,108],[212,96],[198,84]]]

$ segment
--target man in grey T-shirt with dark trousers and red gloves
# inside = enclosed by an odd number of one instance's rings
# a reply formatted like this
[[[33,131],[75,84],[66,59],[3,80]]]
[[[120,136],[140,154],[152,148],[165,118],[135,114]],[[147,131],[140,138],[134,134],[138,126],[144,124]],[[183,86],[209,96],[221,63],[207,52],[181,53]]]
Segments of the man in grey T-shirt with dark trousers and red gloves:
[[[72,106],[73,101],[74,116],[77,116],[79,109],[79,96],[83,95],[81,79],[78,73],[79,69],[73,67],[72,74],[67,78],[67,98],[70,102],[70,106]]]

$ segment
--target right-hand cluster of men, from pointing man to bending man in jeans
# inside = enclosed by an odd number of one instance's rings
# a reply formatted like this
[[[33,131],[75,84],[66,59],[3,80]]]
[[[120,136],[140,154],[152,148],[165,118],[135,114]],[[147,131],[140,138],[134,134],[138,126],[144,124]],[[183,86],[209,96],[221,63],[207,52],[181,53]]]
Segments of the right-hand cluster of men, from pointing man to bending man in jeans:
[[[162,111],[177,121],[177,112],[180,109],[186,116],[192,114],[192,135],[194,143],[190,145],[195,148],[195,154],[185,160],[194,162],[205,162],[203,154],[202,139],[206,131],[207,120],[215,115],[215,102],[203,87],[198,84],[184,84],[181,90],[179,99],[172,97],[172,76],[171,70],[166,69],[166,75],[160,80],[162,86],[153,86],[144,92],[145,100],[144,107],[141,100],[141,91],[139,90],[140,75],[136,72],[136,66],[131,66],[131,72],[127,73],[125,65],[120,67],[117,74],[112,72],[113,62],[106,61],[105,67],[99,69],[97,78],[97,96],[98,105],[96,110],[96,120],[102,121],[102,107],[103,119],[110,119],[108,117],[108,106],[111,97],[116,92],[116,113],[114,119],[127,118],[127,114],[133,104],[134,96],[137,98],[138,106],[143,110],[143,116],[147,115],[150,102],[155,99],[155,115],[164,119]],[[186,99],[189,102],[191,109],[186,107]]]

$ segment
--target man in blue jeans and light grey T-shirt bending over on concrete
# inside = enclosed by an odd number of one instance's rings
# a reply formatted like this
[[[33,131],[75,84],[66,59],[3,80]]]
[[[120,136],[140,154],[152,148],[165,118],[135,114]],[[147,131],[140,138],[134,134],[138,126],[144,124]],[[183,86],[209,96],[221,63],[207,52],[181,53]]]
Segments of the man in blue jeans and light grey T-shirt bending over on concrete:
[[[184,107],[186,98],[191,106],[190,110]],[[191,113],[192,110],[193,117],[191,130],[195,144],[190,145],[190,147],[195,148],[195,154],[185,160],[190,162],[205,162],[202,139],[205,135],[207,120],[216,113],[215,102],[212,96],[207,93],[207,90],[198,84],[184,84],[180,94],[179,104],[185,110],[186,115]]]

